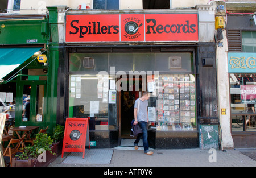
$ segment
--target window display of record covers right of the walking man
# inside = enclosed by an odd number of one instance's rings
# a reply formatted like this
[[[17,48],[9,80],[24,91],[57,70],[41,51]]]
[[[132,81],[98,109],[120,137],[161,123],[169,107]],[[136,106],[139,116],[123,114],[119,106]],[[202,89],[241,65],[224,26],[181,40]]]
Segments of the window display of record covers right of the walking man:
[[[156,130],[195,130],[195,76],[159,75],[155,82],[158,91]]]

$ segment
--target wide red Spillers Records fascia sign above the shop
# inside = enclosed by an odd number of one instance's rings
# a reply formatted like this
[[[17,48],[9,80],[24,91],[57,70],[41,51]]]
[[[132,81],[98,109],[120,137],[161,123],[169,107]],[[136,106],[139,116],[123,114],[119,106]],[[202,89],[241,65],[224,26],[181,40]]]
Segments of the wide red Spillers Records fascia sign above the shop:
[[[197,14],[67,15],[66,42],[197,42]]]

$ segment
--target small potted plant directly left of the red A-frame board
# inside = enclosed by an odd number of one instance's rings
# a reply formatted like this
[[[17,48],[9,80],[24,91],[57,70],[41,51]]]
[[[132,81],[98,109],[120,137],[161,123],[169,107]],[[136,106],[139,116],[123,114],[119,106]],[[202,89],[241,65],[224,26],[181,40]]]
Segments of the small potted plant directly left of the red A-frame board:
[[[56,157],[61,154],[64,138],[64,126],[57,125],[53,131],[53,152],[56,153]]]

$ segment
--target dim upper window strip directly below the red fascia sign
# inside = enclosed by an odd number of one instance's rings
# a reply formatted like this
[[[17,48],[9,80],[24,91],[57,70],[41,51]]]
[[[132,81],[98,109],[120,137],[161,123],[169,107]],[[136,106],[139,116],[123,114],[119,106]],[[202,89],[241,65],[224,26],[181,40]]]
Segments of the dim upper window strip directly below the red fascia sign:
[[[191,52],[183,53],[70,53],[69,71],[193,72]]]

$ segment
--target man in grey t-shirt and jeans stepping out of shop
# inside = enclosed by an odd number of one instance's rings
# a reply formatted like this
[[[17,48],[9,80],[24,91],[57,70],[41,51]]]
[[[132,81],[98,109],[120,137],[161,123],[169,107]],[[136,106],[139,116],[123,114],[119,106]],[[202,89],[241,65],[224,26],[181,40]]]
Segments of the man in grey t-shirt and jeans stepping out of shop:
[[[138,149],[138,143],[143,136],[143,147],[144,153],[147,155],[152,155],[153,152],[148,150],[148,140],[147,140],[147,123],[148,123],[148,98],[150,93],[144,92],[141,98],[138,98],[134,104],[134,125],[139,124],[143,133],[137,136],[137,139],[134,142],[135,150]]]

